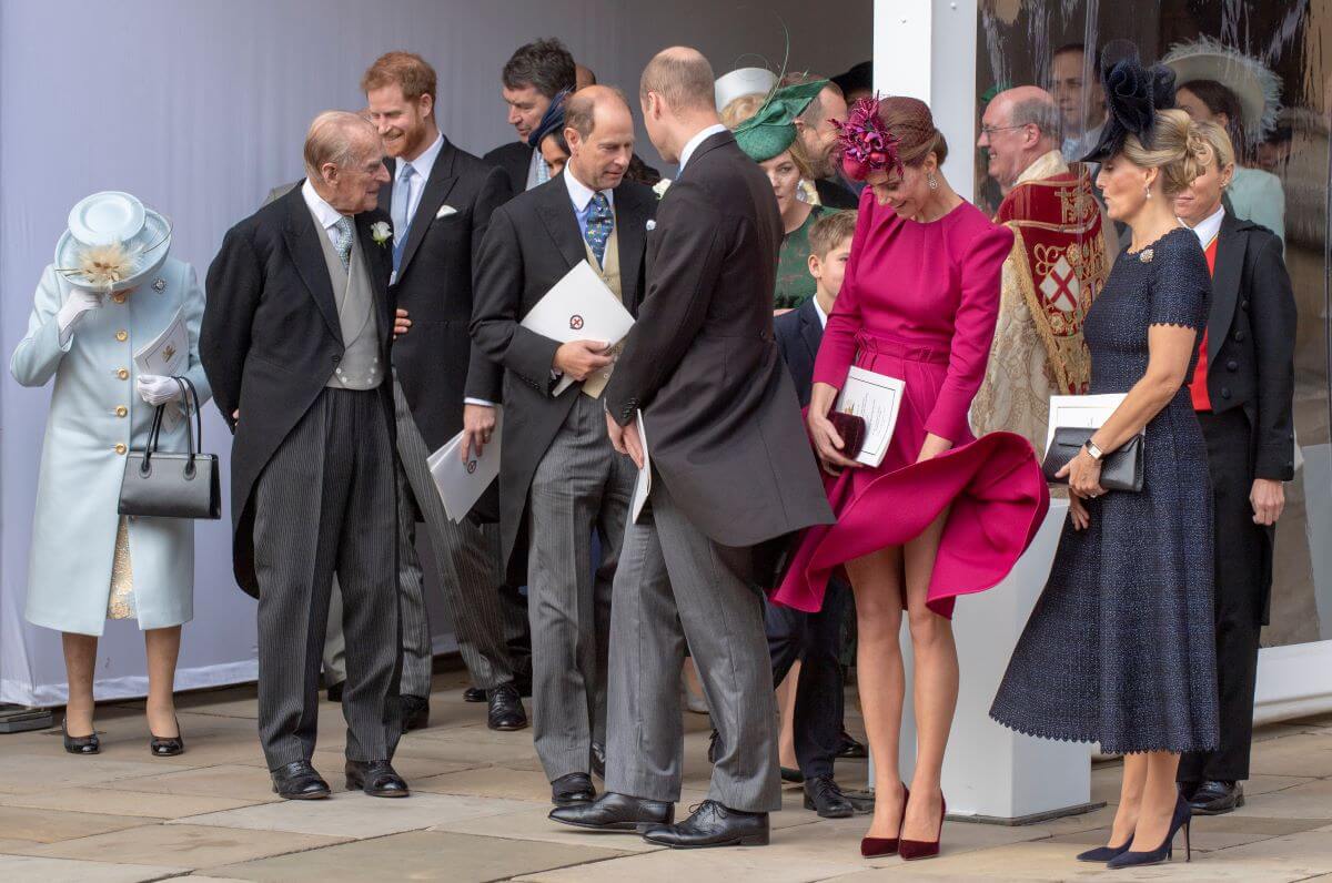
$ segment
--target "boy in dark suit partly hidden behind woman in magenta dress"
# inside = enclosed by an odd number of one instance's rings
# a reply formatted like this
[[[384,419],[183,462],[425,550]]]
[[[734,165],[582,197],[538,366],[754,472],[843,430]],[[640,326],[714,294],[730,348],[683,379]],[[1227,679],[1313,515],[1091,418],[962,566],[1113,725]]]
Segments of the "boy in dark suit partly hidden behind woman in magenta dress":
[[[810,276],[817,289],[814,297],[799,308],[778,316],[773,322],[777,348],[782,353],[801,408],[810,404],[814,358],[823,340],[832,302],[842,289],[842,276],[851,256],[855,212],[830,212],[810,230]],[[844,582],[835,579],[823,598],[823,610],[806,614],[790,607],[767,605],[765,626],[773,659],[773,683],[781,685],[791,667],[795,673],[795,709],[791,717],[791,743],[783,726],[782,778],[805,780],[805,808],[823,818],[846,818],[854,812],[851,802],[832,779],[832,762],[842,750],[842,621],[850,601]],[[779,690],[779,695],[781,695]],[[785,705],[785,703],[783,703]],[[783,722],[786,719],[783,709]],[[799,771],[787,767],[793,758]]]

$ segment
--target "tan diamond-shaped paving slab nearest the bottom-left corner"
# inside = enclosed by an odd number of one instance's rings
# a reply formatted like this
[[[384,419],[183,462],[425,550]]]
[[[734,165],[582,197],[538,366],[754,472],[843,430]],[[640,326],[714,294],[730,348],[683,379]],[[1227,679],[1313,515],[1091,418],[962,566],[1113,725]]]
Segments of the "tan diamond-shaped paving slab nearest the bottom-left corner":
[[[77,840],[45,843],[27,855],[113,862],[117,864],[170,864],[210,868],[286,852],[302,852],[345,842],[289,831],[242,831],[204,824],[149,824]]]

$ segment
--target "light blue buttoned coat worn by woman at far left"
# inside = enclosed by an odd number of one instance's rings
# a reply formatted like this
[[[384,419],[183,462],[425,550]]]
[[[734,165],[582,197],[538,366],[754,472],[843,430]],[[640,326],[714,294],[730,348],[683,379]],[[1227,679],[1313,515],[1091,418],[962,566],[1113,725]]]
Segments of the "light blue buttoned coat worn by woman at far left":
[[[165,286],[153,282],[161,280]],[[123,302],[75,324],[60,345],[56,313],[71,285],[47,266],[28,318],[28,336],[9,361],[24,386],[56,378],[41,445],[37,506],[28,558],[28,622],[60,631],[100,635],[107,619],[111,569],[120,522],[117,505],[125,451],[144,447],[153,408],[135,392],[135,350],[160,334],[182,308],[189,326],[189,370],[200,397],[210,390],[198,364],[204,292],[189,264],[166,258]],[[178,405],[168,405],[173,408]],[[185,424],[163,430],[163,450],[185,450]],[[164,629],[194,615],[194,522],[132,518],[129,558],[140,629]]]

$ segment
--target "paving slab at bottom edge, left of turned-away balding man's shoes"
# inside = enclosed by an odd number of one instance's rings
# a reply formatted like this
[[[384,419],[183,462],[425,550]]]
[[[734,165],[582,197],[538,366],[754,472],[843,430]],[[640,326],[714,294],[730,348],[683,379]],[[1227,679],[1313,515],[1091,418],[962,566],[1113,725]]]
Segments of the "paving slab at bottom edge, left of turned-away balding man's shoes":
[[[242,880],[318,879],[321,883],[365,880],[448,880],[481,883],[551,868],[605,862],[625,855],[611,850],[531,840],[502,840],[434,831],[332,846],[217,868]],[[378,871],[378,872],[377,872]]]

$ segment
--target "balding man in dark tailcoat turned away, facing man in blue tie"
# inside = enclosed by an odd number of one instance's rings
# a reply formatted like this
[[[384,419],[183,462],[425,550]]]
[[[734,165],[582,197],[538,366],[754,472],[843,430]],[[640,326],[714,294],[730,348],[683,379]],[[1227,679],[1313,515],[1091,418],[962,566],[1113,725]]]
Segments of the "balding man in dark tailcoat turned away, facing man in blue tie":
[[[832,521],[773,338],[782,218],[773,186],[717,117],[695,49],[643,71],[647,135],[679,176],[649,234],[647,296],[606,388],[615,447],[651,493],[625,531],[611,602],[606,794],[551,819],[670,847],[757,846],[781,808],[777,710],[755,586],[767,541]],[[721,748],[707,799],[671,824],[681,788],[679,671],[689,646]]]

